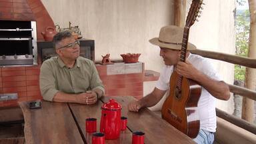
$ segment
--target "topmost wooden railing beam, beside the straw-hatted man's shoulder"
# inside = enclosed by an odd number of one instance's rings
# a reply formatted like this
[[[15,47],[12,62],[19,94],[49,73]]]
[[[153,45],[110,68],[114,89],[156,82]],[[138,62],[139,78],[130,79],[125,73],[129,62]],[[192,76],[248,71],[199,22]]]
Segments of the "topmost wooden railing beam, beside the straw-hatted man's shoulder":
[[[196,49],[196,50],[193,50],[190,52],[197,54],[197,55],[201,55],[202,57],[210,58],[210,59],[217,59],[220,61],[226,61],[228,63],[243,65],[245,67],[256,68],[256,59],[252,59],[249,57],[241,57],[241,56],[237,56],[237,55],[218,53],[218,52],[214,52],[214,51],[204,51],[201,49]]]

